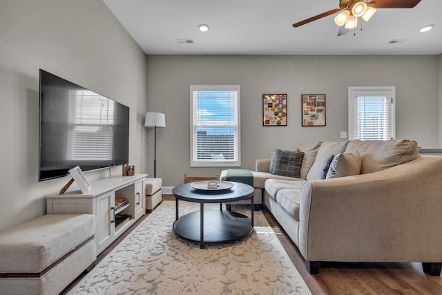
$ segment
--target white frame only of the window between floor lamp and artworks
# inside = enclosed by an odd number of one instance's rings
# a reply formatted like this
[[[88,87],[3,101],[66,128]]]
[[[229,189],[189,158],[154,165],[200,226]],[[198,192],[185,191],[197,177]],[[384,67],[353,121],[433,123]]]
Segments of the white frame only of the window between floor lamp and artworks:
[[[239,167],[241,166],[241,126],[240,126],[240,97],[241,97],[241,87],[240,85],[191,85],[190,86],[190,166],[191,167]],[[236,160],[218,160],[211,159],[205,160],[204,162],[198,161],[193,158],[193,151],[195,149],[194,140],[196,135],[196,128],[193,124],[193,93],[198,91],[236,91],[237,93],[237,101],[236,101],[236,110],[237,113],[235,116],[237,117],[236,122],[236,146],[234,146],[234,153]],[[235,125],[233,125],[235,126]],[[235,127],[234,127],[235,128]],[[235,144],[235,142],[234,142]]]

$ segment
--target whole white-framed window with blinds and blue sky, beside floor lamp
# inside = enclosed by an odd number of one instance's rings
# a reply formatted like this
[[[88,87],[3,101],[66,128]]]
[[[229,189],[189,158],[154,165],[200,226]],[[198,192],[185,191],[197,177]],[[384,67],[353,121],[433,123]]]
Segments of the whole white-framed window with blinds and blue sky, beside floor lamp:
[[[191,85],[191,166],[241,166],[240,86]]]

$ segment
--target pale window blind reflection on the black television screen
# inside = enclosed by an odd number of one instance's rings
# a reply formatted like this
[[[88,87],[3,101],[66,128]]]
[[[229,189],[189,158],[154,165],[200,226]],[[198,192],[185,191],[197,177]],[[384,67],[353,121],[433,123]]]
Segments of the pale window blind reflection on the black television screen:
[[[92,91],[69,97],[68,160],[112,160],[114,102]],[[93,152],[91,152],[93,151]]]

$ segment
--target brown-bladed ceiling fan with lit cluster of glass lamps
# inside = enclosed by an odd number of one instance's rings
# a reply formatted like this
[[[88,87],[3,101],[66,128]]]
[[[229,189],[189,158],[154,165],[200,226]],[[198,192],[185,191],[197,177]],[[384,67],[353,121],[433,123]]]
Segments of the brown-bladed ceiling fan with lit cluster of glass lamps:
[[[376,12],[376,8],[414,8],[419,2],[421,2],[421,0],[339,0],[339,8],[334,8],[320,15],[304,19],[303,21],[294,23],[293,26],[298,28],[311,21],[316,21],[317,19],[322,19],[323,17],[340,12],[334,18],[334,22],[340,26],[338,32],[338,36],[340,36],[358,26],[358,17],[369,21]]]

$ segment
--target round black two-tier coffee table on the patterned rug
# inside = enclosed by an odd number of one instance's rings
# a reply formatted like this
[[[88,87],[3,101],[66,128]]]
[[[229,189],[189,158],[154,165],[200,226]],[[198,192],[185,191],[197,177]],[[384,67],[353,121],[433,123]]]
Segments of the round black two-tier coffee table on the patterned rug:
[[[239,240],[253,231],[253,187],[249,184],[231,182],[231,189],[194,189],[191,183],[181,184],[172,190],[175,197],[175,222],[173,231],[184,240],[205,244],[217,244]],[[251,200],[251,218],[244,214],[222,210],[222,203]],[[178,200],[200,203],[200,212],[178,217]],[[220,210],[204,211],[204,204],[220,203]]]

